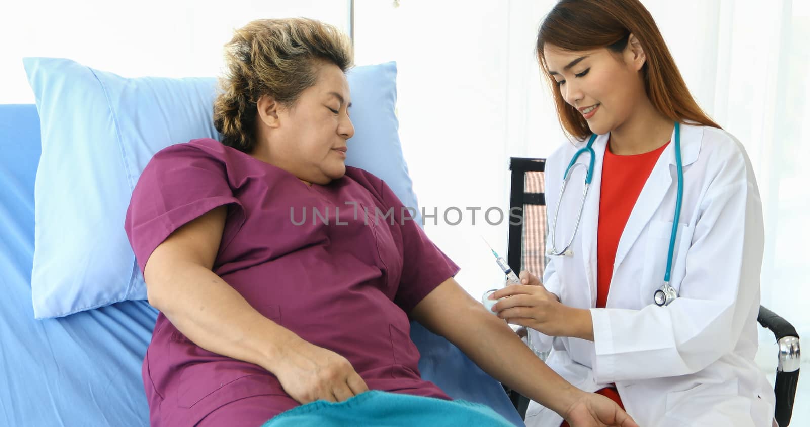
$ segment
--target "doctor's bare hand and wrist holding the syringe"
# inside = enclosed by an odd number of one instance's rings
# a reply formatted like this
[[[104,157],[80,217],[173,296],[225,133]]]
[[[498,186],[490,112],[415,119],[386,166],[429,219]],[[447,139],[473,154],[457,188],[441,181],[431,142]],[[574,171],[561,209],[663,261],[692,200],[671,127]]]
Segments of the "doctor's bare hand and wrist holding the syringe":
[[[594,340],[589,310],[565,306],[536,277],[528,273],[524,276],[523,273],[521,281],[529,284],[505,286],[489,296],[490,299],[509,297],[492,306],[498,317],[548,336]]]

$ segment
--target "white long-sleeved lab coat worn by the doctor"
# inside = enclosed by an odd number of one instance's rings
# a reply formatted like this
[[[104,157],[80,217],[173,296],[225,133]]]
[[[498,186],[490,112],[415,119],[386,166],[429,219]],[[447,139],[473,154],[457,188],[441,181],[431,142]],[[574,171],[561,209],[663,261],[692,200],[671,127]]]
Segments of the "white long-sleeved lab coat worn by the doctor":
[[[654,290],[663,284],[676,201],[671,143],[621,235],[607,308],[593,308],[599,188],[608,142],[608,135],[600,135],[573,256],[552,256],[542,279],[565,305],[590,308],[595,341],[552,339],[535,331],[530,338],[540,350],[553,347],[548,366],[582,390],[615,383],[627,412],[642,427],[770,426],[774,391],[753,361],[764,244],[757,181],[743,146],[729,133],[684,124],[680,133],[684,196],[671,273],[680,297],[668,307],[653,303]],[[546,163],[549,230],[565,167],[578,148],[565,143]],[[587,166],[588,155],[578,163]],[[576,222],[583,178],[584,168],[577,167],[559,207],[558,247]],[[550,236],[548,242],[550,247]],[[561,421],[536,402],[527,410],[530,427],[557,427]]]

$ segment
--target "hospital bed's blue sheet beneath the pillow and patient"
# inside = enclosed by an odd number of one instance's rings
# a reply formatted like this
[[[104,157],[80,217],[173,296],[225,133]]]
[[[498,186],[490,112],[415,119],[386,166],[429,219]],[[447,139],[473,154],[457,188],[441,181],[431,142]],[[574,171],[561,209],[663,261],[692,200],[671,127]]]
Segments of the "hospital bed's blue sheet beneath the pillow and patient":
[[[39,159],[36,105],[0,105],[0,426],[147,426],[141,362],[156,321],[153,307],[127,301],[34,319],[33,192]],[[65,251],[70,246],[64,242]],[[522,425],[501,384],[454,345],[419,323],[411,323],[411,339],[420,349],[424,378],[454,398],[487,404]]]

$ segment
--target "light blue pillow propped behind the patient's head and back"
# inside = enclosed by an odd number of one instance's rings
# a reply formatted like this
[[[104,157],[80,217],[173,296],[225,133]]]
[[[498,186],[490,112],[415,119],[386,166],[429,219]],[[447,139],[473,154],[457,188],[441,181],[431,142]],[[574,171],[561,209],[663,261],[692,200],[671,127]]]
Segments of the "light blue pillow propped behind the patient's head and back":
[[[146,299],[124,232],[134,185],[157,151],[219,137],[214,78],[122,78],[59,58],[25,58],[40,114],[32,297],[37,319]],[[348,74],[346,163],[385,180],[416,207],[399,142],[394,62]]]

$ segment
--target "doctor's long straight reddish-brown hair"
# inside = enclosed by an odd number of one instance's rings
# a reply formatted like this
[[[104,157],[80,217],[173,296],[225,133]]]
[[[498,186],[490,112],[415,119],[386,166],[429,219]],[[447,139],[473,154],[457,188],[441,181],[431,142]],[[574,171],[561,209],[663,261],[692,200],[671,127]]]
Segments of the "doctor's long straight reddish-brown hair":
[[[590,135],[582,114],[565,102],[544,57],[545,44],[584,51],[607,48],[614,53],[627,46],[630,33],[641,42],[646,62],[644,86],[653,106],[675,121],[692,120],[719,128],[697,105],[680,76],[653,17],[639,0],[561,0],[548,13],[537,34],[537,57],[552,87],[557,116],[566,133],[578,139]]]

